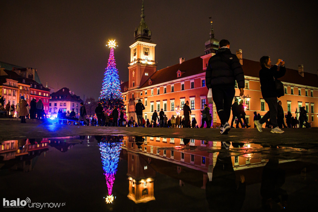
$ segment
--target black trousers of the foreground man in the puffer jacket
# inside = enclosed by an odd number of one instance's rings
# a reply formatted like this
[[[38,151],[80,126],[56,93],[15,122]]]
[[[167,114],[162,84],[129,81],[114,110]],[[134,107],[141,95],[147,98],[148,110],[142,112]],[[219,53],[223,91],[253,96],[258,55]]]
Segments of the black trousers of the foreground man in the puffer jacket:
[[[229,121],[232,101],[235,95],[234,86],[212,87],[212,98],[223,126]],[[277,104],[277,103],[276,103]]]

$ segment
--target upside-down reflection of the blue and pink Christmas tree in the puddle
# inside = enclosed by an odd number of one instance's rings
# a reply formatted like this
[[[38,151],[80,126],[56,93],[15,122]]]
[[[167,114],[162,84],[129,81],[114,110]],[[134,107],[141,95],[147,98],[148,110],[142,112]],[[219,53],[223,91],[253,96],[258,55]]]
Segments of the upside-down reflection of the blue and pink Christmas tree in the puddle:
[[[108,195],[105,198],[105,201],[107,203],[112,203],[114,198],[116,198],[113,196],[112,191],[115,174],[117,172],[121,143],[109,142],[110,140],[107,139],[107,136],[105,136],[101,139],[101,142],[98,145],[100,147],[101,162],[103,164],[103,170],[108,189]]]

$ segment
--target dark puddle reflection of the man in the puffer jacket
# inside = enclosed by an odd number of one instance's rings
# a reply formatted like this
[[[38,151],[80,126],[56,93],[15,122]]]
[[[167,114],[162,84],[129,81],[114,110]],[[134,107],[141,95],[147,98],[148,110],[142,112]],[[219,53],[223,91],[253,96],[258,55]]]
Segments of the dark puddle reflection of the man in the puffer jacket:
[[[227,149],[228,145],[222,145]],[[240,176],[235,184],[235,172],[229,152],[220,152],[213,168],[212,181],[205,186],[210,211],[240,211],[245,200],[245,178]]]

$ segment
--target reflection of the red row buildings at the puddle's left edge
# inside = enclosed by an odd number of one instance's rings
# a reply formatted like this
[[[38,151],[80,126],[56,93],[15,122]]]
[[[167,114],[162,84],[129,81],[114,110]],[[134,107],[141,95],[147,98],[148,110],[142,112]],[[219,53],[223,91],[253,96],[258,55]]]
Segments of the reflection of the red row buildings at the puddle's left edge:
[[[4,141],[0,145],[0,169],[33,171],[36,158],[48,150],[48,139]]]

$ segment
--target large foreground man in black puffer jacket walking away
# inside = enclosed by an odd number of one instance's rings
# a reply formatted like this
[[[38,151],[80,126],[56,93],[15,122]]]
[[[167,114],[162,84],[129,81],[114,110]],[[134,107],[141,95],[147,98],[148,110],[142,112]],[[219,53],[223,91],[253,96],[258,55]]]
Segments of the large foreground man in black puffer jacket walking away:
[[[244,72],[236,55],[230,51],[230,42],[221,40],[220,48],[208,63],[205,82],[208,89],[212,89],[212,97],[218,116],[221,120],[221,134],[227,134],[231,129],[228,121],[231,114],[232,100],[235,95],[235,81],[237,81],[240,96],[244,95]]]

